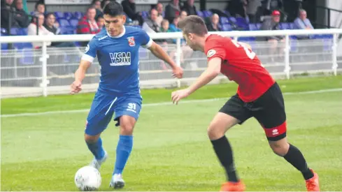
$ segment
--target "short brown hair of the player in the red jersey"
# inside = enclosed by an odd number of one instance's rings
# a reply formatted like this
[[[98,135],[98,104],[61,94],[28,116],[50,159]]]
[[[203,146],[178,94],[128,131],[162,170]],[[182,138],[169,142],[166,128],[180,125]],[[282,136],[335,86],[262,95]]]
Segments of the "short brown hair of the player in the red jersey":
[[[206,23],[201,17],[197,15],[189,15],[178,22],[178,28],[184,34],[197,34],[198,36],[205,36],[208,34]]]

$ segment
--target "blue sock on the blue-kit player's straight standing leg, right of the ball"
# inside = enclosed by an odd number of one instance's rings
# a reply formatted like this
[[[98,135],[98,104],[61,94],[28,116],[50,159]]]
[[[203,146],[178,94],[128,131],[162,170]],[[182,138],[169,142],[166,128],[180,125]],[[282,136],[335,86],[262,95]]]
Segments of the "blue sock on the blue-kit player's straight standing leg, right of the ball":
[[[133,136],[132,135],[120,135],[119,142],[116,147],[116,161],[114,167],[114,174],[121,174],[126,165],[129,154],[133,147]]]

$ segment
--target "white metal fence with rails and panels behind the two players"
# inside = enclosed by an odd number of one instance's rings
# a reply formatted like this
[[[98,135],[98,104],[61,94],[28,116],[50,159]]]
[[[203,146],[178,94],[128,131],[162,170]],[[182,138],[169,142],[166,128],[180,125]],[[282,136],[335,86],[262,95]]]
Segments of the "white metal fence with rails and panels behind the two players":
[[[231,36],[252,45],[263,65],[273,75],[287,78],[298,73],[332,72],[342,70],[342,29],[283,30],[283,31],[227,31],[216,32],[222,36]],[[333,38],[294,40],[292,35],[333,34]],[[265,41],[248,40],[243,37],[284,35],[285,42],[271,48]],[[163,45],[165,50],[185,69],[185,77],[175,80],[171,71],[149,50],[140,50],[141,87],[179,86],[180,82],[189,83],[206,68],[206,56],[193,52],[190,47],[181,45],[181,33],[151,34],[153,39],[176,38],[176,44]],[[43,42],[41,50],[5,50],[1,52],[1,97],[47,96],[48,94],[66,94],[73,82],[73,73],[78,68],[84,47],[52,48],[45,41],[82,41],[90,40],[92,35],[62,36],[6,36],[0,43]],[[338,65],[340,64],[340,65]],[[225,78],[218,77],[218,80]],[[83,82],[84,91],[95,91],[99,82],[99,64],[92,64]]]

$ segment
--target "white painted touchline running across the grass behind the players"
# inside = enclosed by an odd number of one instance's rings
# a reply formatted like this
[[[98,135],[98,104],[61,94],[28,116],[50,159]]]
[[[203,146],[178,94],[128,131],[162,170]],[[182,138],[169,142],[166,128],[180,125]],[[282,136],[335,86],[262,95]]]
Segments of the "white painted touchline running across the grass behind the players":
[[[285,92],[284,95],[294,95],[294,94],[320,94],[320,93],[327,93],[327,92],[336,92],[342,91],[342,88],[339,89],[322,89],[317,91],[301,91],[301,92]],[[209,99],[195,99],[195,100],[187,100],[182,101],[180,103],[205,103],[210,101],[221,101],[226,100],[228,98],[209,98]],[[160,106],[160,105],[173,105],[170,102],[163,102],[163,103],[146,103],[143,104],[144,107],[151,107],[151,106]],[[57,111],[48,111],[48,112],[27,112],[27,113],[18,113],[18,114],[10,114],[10,115],[1,115],[1,117],[23,117],[23,116],[38,116],[38,115],[50,115],[50,114],[58,114],[58,113],[78,113],[78,112],[88,112],[89,109],[85,110],[57,110]]]

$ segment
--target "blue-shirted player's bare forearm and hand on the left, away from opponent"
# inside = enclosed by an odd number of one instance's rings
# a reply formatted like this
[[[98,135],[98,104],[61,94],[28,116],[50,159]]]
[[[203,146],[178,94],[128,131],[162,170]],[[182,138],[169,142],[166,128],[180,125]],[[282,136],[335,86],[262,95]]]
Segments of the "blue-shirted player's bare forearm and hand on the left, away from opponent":
[[[78,66],[77,71],[75,72],[75,81],[71,84],[70,93],[77,94],[82,90],[81,84],[83,79],[85,78],[85,73],[87,73],[87,69],[92,64],[90,61],[87,60],[80,60],[80,66]]]

